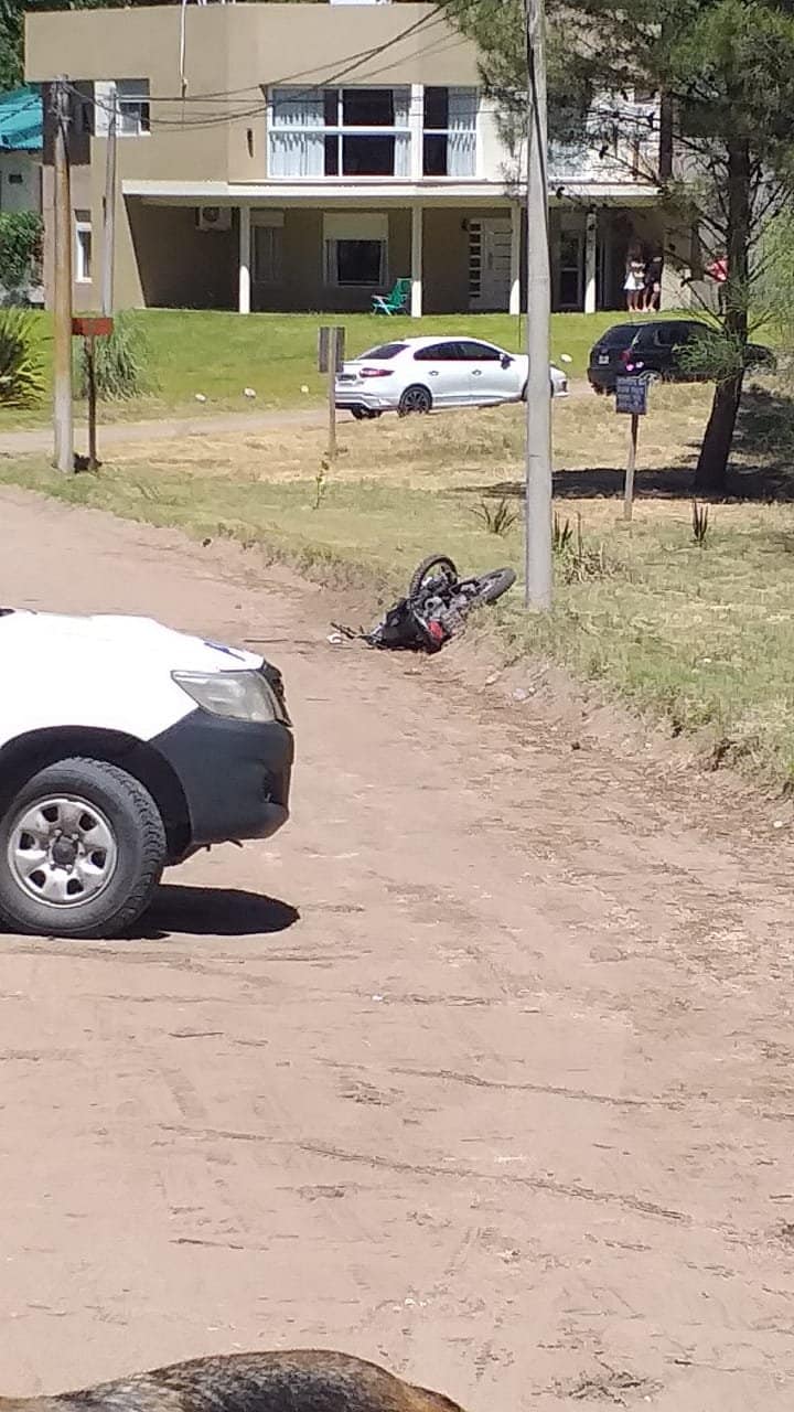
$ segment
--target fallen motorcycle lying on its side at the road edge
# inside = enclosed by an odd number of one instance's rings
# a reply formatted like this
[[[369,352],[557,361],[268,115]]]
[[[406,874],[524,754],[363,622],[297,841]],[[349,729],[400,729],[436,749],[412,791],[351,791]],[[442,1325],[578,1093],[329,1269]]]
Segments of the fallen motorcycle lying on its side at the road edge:
[[[360,638],[369,647],[438,652],[461,631],[472,607],[496,603],[514,582],[513,569],[490,569],[462,579],[448,555],[432,554],[413,573],[405,597],[398,599],[369,633],[338,623],[333,627],[343,637]]]

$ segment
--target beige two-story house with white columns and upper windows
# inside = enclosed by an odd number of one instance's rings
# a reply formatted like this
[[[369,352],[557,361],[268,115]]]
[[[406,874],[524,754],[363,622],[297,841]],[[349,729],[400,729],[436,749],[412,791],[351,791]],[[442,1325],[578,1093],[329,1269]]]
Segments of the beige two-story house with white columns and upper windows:
[[[35,14],[27,76],[72,85],[78,308],[99,302],[113,109],[117,306],[356,311],[400,277],[414,315],[521,306],[516,157],[475,45],[435,6]],[[557,309],[623,306],[629,247],[663,240],[643,175],[658,114],[634,107],[606,147],[550,152]]]

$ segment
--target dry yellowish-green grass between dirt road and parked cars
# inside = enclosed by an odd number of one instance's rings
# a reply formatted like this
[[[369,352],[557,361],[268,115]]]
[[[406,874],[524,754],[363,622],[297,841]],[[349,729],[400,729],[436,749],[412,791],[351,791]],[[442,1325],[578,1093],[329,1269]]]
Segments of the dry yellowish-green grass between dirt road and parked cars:
[[[555,606],[527,616],[511,593],[489,618],[493,655],[551,658],[596,679],[674,733],[699,733],[713,762],[735,762],[776,785],[794,784],[794,504],[766,504],[764,467],[742,436],[737,469],[759,498],[712,507],[705,545],[691,525],[688,467],[708,415],[704,387],[654,391],[643,424],[637,504],[620,518],[624,418],[600,398],[555,404],[555,511],[581,517],[583,554],[557,555]],[[769,414],[763,397],[756,421]],[[757,428],[756,428],[757,432]],[[226,535],[283,556],[322,580],[404,589],[425,554],[466,569],[521,570],[523,412],[506,407],[346,424],[318,500],[322,428],[202,435],[119,450],[96,476],[57,476],[42,463],[0,462],[0,480],[133,520],[177,525],[198,541]],[[759,438],[754,435],[753,446]],[[774,457],[774,460],[773,460]],[[794,493],[776,433],[767,470]],[[757,481],[753,476],[760,477]],[[483,505],[516,518],[496,537]],[[201,551],[196,551],[201,552]]]

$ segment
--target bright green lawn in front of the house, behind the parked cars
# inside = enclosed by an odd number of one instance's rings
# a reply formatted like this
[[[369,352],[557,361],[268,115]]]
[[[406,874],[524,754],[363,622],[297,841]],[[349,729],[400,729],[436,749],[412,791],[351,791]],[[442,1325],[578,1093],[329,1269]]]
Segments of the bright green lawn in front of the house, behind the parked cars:
[[[510,350],[524,339],[524,321],[507,313],[444,315],[427,319],[376,318],[369,313],[220,313],[212,311],[141,309],[134,313],[151,347],[150,395],[103,404],[103,421],[154,418],[196,412],[196,394],[206,411],[266,411],[318,402],[324,378],[316,373],[316,330],[321,323],[343,323],[348,354],[363,353],[386,337],[420,333],[472,333]],[[551,354],[567,354],[561,366],[582,377],[591,345],[620,319],[615,313],[555,313]],[[49,315],[37,315],[40,347],[49,388],[52,337]],[[254,398],[244,395],[253,388]],[[305,388],[305,391],[304,391]],[[49,419],[49,398],[34,412],[0,409],[1,426],[35,426]]]

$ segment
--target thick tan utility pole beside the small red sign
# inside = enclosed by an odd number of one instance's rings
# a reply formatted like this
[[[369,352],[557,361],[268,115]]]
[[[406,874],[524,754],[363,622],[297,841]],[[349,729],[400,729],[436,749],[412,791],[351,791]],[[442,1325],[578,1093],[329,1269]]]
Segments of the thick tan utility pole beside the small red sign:
[[[65,78],[52,85],[55,126],[52,154],[54,292],[52,353],[55,467],[65,476],[75,470],[72,421],[72,198],[69,188],[69,90]]]

